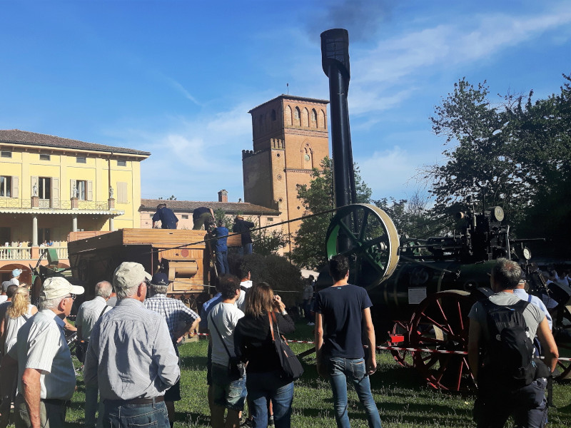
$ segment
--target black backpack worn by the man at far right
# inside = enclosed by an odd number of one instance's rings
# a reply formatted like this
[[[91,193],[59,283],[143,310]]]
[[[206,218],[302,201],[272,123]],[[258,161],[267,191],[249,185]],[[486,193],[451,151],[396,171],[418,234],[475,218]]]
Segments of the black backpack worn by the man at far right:
[[[533,361],[533,338],[523,317],[529,303],[520,300],[514,305],[496,305],[488,299],[481,302],[490,332],[490,341],[485,345],[485,370],[511,387],[530,384],[536,379],[537,365]]]

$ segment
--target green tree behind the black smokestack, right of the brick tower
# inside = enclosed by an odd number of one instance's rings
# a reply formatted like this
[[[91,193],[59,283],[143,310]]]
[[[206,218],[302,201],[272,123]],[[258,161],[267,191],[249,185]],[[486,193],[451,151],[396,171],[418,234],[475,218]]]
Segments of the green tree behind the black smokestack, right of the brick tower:
[[[321,213],[335,208],[332,165],[330,158],[323,158],[320,169],[313,168],[310,184],[298,185],[298,199],[305,208],[304,215]],[[357,165],[354,166],[354,169],[357,202],[369,203],[372,191],[361,179]],[[293,263],[316,269],[327,261],[325,235],[331,218],[333,218],[333,213],[316,215],[302,221],[297,235],[293,238],[295,248],[290,254]]]

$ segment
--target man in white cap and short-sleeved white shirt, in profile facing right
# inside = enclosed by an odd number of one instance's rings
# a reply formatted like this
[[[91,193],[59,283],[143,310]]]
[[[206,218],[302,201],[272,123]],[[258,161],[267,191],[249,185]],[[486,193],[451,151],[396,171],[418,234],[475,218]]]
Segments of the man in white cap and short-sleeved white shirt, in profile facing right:
[[[66,406],[76,387],[64,318],[69,316],[76,295],[83,292],[84,287],[71,285],[64,277],[46,279],[39,295],[39,312],[20,328],[16,346],[1,362],[3,391],[18,365],[16,428],[64,424]]]

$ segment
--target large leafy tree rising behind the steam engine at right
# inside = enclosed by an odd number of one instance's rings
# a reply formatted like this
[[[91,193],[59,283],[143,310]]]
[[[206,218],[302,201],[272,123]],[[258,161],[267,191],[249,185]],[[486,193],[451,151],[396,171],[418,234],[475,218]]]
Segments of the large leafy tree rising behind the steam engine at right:
[[[455,83],[430,118],[436,135],[445,137],[446,161],[420,171],[435,196],[435,218],[461,210],[470,197],[478,208],[505,208],[520,233],[537,232],[539,223],[545,233],[568,223],[571,78],[564,78],[560,93],[545,99],[532,101],[530,91],[495,103],[485,82]]]

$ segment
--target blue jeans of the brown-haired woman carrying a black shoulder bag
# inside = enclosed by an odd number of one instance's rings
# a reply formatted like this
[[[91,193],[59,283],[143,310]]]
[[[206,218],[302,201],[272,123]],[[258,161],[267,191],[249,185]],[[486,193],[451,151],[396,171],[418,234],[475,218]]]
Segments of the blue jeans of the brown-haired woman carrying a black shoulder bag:
[[[268,427],[270,400],[276,428],[290,428],[293,382],[284,382],[279,372],[248,373],[246,389],[252,404],[250,411],[253,416],[253,428]]]

